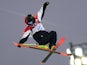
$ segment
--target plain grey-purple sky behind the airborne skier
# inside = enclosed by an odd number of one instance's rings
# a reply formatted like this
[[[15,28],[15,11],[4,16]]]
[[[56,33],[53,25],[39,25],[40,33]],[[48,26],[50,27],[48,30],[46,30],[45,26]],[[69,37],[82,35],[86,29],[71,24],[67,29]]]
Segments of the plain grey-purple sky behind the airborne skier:
[[[24,17],[36,14],[45,1],[50,4],[42,20],[47,31],[57,32],[57,41],[65,43],[57,51],[65,51],[69,43],[87,42],[87,0],[0,0],[0,65],[42,65],[48,52],[17,48],[26,27]],[[26,43],[34,43],[30,38]],[[44,65],[69,65],[69,57],[53,54]]]

